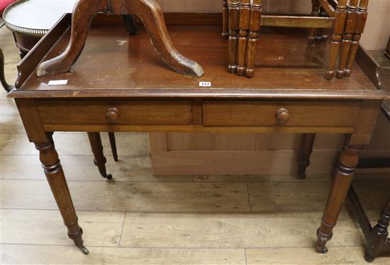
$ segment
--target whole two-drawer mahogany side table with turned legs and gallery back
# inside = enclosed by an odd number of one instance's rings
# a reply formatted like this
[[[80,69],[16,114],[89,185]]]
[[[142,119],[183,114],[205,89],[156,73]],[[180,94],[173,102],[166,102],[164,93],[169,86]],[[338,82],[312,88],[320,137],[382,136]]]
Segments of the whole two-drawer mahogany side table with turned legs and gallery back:
[[[220,38],[219,26],[171,26],[175,47],[205,67],[204,77],[189,77],[162,64],[145,31],[121,45],[117,40],[128,39],[123,26],[105,26],[91,28],[73,72],[37,77],[42,60],[67,48],[70,28],[68,15],[29,52],[18,65],[17,86],[9,96],[15,98],[28,139],[40,152],[68,235],[77,247],[88,253],[52,140],[55,131],[342,133],[345,146],[317,232],[316,249],[328,251],[325,244],[333,235],[359,150],[369,143],[381,102],[387,98],[357,64],[350,79],[326,81],[326,63],[321,61],[325,48],[313,54],[301,49],[305,32],[272,29],[263,32],[267,47],[262,51],[267,65],[263,74],[237,79],[221,67],[228,44]],[[48,86],[57,79],[67,79],[67,85]],[[203,81],[211,86],[201,86]]]

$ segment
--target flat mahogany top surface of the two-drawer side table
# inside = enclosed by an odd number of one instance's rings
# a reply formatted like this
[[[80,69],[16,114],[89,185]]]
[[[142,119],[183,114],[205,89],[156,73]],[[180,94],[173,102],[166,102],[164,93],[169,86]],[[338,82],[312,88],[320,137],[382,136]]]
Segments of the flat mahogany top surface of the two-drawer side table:
[[[91,28],[73,71],[28,77],[15,98],[202,97],[202,98],[384,98],[355,64],[350,78],[325,80],[328,45],[307,45],[306,30],[264,28],[255,77],[229,74],[228,40],[218,26],[169,26],[174,46],[204,68],[204,77],[177,74],[153,50],[145,31],[128,35],[124,26]],[[45,60],[65,50],[69,28]],[[67,79],[65,86],[48,81]],[[211,87],[200,87],[200,81]]]

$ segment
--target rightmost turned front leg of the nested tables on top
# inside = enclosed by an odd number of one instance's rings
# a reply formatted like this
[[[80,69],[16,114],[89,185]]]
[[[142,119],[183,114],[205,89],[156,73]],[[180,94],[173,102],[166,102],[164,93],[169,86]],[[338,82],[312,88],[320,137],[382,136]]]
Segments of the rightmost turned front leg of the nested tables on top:
[[[352,64],[355,62],[357,48],[359,47],[359,41],[364,32],[364,28],[367,22],[367,6],[369,0],[360,0],[359,7],[357,8],[357,21],[355,30],[352,35],[352,43],[350,47],[350,55],[347,62],[347,67],[344,70],[345,77],[350,77],[352,72]]]

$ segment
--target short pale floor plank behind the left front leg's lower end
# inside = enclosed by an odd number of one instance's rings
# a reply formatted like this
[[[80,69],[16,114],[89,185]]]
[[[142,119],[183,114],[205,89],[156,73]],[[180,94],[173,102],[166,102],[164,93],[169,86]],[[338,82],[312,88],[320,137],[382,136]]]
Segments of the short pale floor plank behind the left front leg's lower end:
[[[86,245],[118,246],[124,212],[78,211]],[[73,246],[58,210],[1,210],[1,244]]]

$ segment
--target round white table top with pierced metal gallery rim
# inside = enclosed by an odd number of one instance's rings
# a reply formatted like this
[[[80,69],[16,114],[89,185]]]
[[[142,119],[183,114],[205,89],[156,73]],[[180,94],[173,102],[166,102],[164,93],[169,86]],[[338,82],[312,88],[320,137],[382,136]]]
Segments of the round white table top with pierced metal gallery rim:
[[[21,0],[4,11],[4,21],[11,30],[44,35],[64,13],[72,13],[77,0]]]

